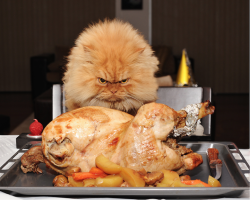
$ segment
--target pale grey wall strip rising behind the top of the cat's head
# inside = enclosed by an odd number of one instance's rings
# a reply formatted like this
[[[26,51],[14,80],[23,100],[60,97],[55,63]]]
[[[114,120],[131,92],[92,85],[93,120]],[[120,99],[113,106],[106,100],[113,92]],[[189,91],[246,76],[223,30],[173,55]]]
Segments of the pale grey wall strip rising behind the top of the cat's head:
[[[144,38],[152,44],[152,0],[143,0],[142,10],[122,10],[121,0],[116,0],[115,16],[118,19],[131,23],[138,29]]]

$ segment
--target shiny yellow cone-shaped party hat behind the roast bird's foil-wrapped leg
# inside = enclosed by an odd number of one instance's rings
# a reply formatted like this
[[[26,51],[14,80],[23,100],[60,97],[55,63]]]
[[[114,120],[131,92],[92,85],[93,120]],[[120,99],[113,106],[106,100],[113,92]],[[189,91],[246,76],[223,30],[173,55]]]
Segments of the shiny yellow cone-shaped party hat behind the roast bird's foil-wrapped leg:
[[[182,51],[181,62],[176,77],[176,84],[177,86],[183,86],[185,84],[189,84],[189,79],[190,79],[189,67],[187,65],[186,50],[184,49]]]

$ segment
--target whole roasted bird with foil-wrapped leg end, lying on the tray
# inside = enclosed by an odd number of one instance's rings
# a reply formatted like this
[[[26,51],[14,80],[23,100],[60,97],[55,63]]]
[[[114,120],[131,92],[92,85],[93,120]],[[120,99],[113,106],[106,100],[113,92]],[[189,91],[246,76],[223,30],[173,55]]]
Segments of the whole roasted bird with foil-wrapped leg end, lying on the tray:
[[[149,103],[133,117],[104,107],[82,107],[50,122],[36,151],[43,153],[48,167],[63,175],[74,169],[89,171],[100,154],[136,171],[168,169],[182,174],[203,161],[201,155],[177,144],[177,139],[195,131],[197,121],[214,109],[209,101],[180,111]],[[29,160],[29,151],[22,160]],[[40,173],[37,162],[22,162],[21,168],[24,173]]]

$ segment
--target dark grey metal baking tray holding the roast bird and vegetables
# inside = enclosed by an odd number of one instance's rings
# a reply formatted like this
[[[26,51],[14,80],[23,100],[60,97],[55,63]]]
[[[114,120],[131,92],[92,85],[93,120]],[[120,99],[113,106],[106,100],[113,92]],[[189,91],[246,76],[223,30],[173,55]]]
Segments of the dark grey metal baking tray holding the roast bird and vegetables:
[[[44,163],[39,167],[42,174],[24,174],[21,169],[21,155],[40,142],[28,142],[13,155],[1,168],[0,190],[21,195],[49,195],[49,196],[84,196],[84,197],[137,197],[137,198],[188,198],[188,197],[237,197],[244,190],[249,190],[249,165],[232,142],[180,142],[181,145],[191,148],[202,155],[203,163],[185,174],[191,179],[201,179],[207,182],[210,175],[206,151],[208,148],[217,148],[219,158],[223,162],[222,176],[219,179],[222,187],[213,188],[101,188],[101,187],[53,187],[52,180],[56,173],[46,168]],[[8,165],[12,166],[6,169]]]

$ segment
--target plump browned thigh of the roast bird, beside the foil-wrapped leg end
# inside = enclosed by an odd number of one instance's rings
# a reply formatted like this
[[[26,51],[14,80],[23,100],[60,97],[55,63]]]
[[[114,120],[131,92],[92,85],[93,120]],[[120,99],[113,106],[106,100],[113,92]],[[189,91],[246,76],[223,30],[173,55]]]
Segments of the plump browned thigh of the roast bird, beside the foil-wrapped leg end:
[[[181,168],[181,156],[162,142],[178,121],[178,113],[164,104],[142,106],[110,159],[138,171]]]

